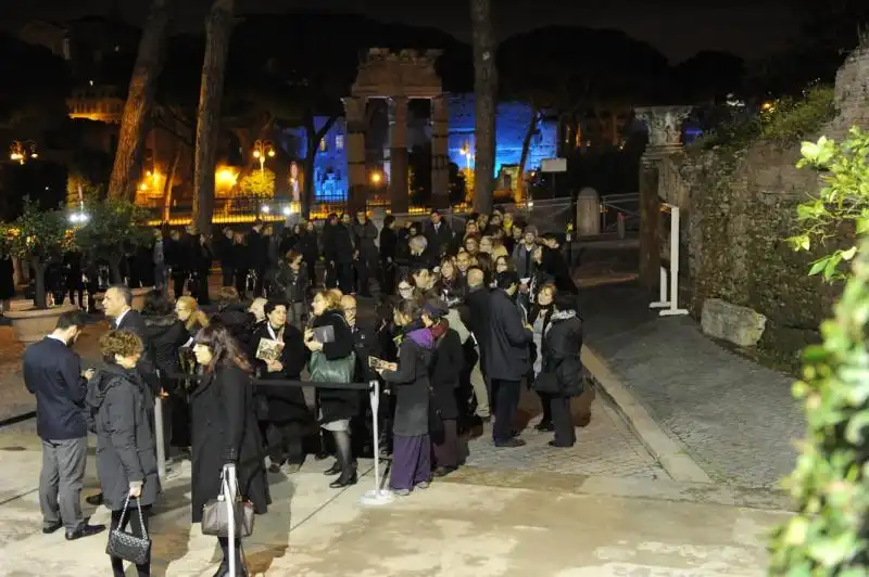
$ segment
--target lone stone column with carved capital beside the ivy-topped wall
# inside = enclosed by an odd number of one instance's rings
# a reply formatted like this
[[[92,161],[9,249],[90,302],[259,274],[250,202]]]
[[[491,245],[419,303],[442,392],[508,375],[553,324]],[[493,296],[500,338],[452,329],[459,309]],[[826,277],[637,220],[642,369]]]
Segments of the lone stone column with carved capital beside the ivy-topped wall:
[[[660,279],[660,161],[681,152],[682,121],[691,106],[648,106],[634,111],[648,129],[648,144],[640,166],[640,282],[656,288]],[[669,232],[668,232],[669,234]]]

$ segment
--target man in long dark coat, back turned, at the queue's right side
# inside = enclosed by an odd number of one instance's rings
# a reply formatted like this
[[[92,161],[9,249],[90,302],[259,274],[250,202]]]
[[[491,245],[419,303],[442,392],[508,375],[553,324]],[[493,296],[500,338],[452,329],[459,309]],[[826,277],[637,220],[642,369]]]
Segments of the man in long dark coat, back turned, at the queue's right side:
[[[492,438],[495,447],[521,447],[525,441],[515,438],[513,421],[519,407],[519,384],[530,364],[528,348],[533,332],[514,302],[519,287],[516,271],[500,272],[495,283],[489,297],[489,331],[483,356],[495,409]]]

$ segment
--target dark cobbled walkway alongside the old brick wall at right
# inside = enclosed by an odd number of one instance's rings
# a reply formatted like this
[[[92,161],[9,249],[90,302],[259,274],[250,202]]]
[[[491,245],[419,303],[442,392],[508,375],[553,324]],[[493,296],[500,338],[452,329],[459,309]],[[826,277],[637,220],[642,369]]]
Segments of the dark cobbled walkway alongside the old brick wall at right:
[[[773,487],[804,434],[793,379],[721,348],[688,317],[658,317],[635,283],[581,291],[585,345],[716,482]]]

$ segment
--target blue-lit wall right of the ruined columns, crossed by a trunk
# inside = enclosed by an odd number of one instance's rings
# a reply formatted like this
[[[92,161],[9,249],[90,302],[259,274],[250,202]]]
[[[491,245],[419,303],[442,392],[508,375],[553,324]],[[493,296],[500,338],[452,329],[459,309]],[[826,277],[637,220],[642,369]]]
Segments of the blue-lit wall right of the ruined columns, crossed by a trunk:
[[[450,161],[459,168],[467,166],[463,148],[470,142],[474,150],[474,94],[452,94],[449,97]],[[531,119],[531,106],[522,102],[502,102],[498,105],[495,120],[495,176],[502,165],[518,165],[522,153],[522,141]],[[539,133],[531,140],[526,169],[539,168],[544,158],[554,158],[557,146],[557,126],[543,120],[538,126]],[[471,158],[470,166],[474,166]]]

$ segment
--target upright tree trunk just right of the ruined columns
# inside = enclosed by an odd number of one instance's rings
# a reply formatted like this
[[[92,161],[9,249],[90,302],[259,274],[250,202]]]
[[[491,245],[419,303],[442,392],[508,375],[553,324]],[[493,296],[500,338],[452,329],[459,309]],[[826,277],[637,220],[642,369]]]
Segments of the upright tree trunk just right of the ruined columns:
[[[474,93],[476,143],[474,166],[474,208],[492,211],[495,165],[495,36],[492,26],[492,0],[470,0],[474,25]]]

